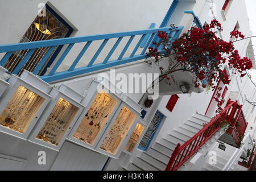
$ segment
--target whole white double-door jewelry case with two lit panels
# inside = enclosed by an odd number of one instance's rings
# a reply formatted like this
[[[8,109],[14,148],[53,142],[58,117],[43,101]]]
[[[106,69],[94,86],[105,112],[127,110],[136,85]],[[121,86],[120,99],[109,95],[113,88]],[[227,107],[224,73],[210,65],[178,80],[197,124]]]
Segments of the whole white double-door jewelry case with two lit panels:
[[[93,80],[90,83],[81,102],[89,104],[80,116],[81,122],[77,122],[69,134],[69,141],[112,158],[119,156],[141,107],[121,92],[113,91],[116,89],[110,82],[102,84]]]

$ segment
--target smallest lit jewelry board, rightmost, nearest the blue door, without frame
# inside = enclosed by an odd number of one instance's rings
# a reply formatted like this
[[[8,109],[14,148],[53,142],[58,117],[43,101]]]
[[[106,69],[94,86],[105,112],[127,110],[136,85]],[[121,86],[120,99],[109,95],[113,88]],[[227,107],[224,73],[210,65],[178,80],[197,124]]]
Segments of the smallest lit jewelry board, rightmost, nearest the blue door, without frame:
[[[131,134],[131,137],[125,147],[125,150],[127,152],[133,152],[135,146],[137,145],[139,138],[141,137],[143,130],[144,130],[144,126],[141,125],[140,123],[137,123],[135,129],[133,130],[133,133]]]

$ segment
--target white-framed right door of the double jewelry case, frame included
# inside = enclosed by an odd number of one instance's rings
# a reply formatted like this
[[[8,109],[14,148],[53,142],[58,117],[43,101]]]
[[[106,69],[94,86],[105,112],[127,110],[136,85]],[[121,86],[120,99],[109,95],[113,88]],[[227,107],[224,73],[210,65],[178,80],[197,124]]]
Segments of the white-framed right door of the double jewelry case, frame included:
[[[118,158],[139,118],[138,111],[122,102],[112,122],[96,146],[96,150],[112,158]]]

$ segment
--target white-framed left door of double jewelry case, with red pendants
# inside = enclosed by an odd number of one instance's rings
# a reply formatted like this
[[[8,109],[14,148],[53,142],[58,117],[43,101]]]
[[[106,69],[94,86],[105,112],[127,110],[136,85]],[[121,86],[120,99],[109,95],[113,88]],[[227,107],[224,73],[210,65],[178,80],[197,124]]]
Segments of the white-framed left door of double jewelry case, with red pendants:
[[[80,115],[80,121],[73,127],[68,139],[81,146],[95,148],[102,133],[109,125],[115,111],[121,103],[121,100],[106,89],[94,90],[86,97],[91,100],[85,110]],[[82,104],[86,102],[82,101]]]

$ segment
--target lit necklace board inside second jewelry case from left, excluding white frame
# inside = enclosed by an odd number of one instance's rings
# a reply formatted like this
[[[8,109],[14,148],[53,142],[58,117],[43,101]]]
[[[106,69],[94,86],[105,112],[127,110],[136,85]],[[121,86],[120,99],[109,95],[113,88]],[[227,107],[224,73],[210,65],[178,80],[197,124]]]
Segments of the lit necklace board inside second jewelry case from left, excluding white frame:
[[[78,110],[78,107],[60,98],[36,138],[57,146]]]

